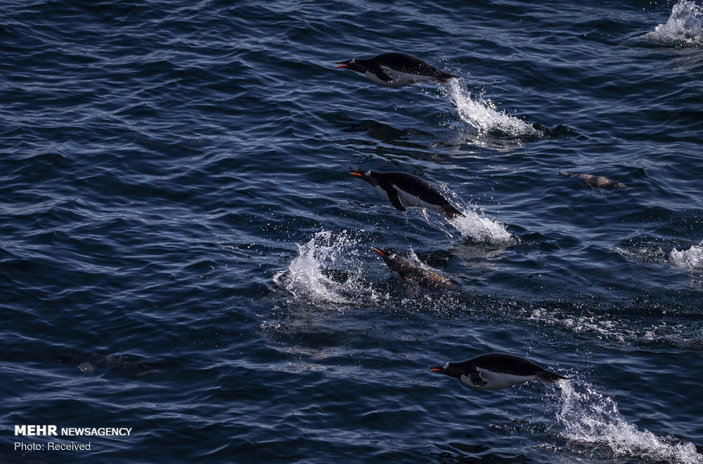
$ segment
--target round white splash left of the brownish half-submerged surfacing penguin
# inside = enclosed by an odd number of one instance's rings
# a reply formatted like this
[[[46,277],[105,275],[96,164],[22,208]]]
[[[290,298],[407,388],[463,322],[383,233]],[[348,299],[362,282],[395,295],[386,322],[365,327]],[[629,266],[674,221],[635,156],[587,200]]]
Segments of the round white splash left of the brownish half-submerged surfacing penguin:
[[[354,303],[374,298],[373,289],[362,279],[360,239],[347,231],[323,230],[304,245],[298,245],[288,269],[273,276],[273,284],[297,300],[313,303]]]

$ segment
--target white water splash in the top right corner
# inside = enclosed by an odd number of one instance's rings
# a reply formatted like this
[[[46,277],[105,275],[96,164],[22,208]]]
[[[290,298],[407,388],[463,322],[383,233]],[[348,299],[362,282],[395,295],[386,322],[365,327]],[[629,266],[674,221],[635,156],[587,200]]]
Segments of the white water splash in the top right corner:
[[[678,46],[703,46],[703,8],[693,1],[679,0],[671,16],[644,39]]]

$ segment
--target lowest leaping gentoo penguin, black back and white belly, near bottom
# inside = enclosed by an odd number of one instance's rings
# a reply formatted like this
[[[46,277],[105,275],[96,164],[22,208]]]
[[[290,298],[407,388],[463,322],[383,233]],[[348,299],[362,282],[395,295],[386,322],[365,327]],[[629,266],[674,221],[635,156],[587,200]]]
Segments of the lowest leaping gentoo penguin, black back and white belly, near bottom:
[[[479,390],[498,390],[529,380],[555,383],[560,378],[567,378],[542,369],[527,359],[501,353],[482,354],[464,362],[446,362],[430,371],[458,378]]]

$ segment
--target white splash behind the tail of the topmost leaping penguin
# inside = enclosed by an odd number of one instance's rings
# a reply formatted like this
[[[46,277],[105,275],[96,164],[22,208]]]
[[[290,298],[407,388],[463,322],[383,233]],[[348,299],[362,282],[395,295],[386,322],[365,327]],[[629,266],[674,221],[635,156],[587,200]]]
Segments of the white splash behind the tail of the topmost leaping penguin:
[[[455,106],[460,119],[478,131],[479,135],[498,131],[508,137],[539,137],[541,131],[526,122],[496,110],[491,100],[472,98],[470,91],[459,83],[459,79],[449,79],[439,86],[441,93]]]

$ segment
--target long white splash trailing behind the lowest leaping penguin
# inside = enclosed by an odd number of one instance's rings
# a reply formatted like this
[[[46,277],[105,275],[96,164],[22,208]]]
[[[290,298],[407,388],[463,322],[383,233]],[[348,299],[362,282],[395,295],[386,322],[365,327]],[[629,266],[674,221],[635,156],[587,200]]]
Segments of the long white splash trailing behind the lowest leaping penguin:
[[[703,455],[694,444],[640,430],[621,415],[612,398],[600,395],[592,385],[578,385],[579,391],[573,381],[556,385],[561,399],[557,420],[565,427],[562,435],[569,442],[592,445],[598,450],[607,446],[614,457],[703,464]]]

